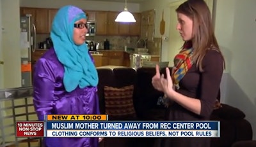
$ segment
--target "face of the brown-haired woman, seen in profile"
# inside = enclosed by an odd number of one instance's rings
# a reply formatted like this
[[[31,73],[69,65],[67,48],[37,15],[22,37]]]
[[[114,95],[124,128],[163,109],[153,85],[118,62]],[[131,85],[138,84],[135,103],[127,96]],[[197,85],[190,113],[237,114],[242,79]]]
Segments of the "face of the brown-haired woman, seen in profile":
[[[193,37],[193,20],[182,13],[177,13],[178,24],[176,29],[179,31],[184,41],[189,41]]]

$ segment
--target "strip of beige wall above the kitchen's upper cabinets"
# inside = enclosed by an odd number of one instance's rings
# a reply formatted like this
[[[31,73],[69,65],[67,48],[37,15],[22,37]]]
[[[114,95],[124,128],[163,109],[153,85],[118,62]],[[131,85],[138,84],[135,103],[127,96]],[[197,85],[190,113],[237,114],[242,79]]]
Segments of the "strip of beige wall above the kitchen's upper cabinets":
[[[20,0],[20,6],[35,8],[60,8],[70,4],[83,10],[124,11],[125,3],[85,0]],[[127,3],[127,8],[131,12],[140,12],[140,4]]]

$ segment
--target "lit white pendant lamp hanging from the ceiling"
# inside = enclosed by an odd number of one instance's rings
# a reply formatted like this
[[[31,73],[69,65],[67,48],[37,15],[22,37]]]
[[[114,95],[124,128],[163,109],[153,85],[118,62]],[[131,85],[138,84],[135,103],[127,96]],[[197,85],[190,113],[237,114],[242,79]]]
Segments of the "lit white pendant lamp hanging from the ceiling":
[[[136,22],[134,16],[127,9],[127,3],[125,0],[124,11],[119,13],[115,19],[115,22]]]

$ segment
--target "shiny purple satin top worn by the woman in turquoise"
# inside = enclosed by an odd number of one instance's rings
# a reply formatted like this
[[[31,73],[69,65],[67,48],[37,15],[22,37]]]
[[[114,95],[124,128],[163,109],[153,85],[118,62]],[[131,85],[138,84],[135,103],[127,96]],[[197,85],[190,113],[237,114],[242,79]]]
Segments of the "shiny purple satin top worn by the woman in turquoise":
[[[33,71],[33,102],[38,120],[47,114],[87,115],[99,114],[97,87],[77,87],[66,92],[63,85],[64,67],[54,49],[47,51],[35,64]],[[45,137],[46,147],[97,147],[93,137]]]

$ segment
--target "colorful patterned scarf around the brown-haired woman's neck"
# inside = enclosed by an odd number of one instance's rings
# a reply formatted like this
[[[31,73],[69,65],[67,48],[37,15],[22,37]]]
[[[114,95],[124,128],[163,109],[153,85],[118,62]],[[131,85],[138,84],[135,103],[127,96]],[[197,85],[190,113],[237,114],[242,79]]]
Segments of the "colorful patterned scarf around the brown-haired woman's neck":
[[[179,89],[179,82],[193,65],[193,48],[183,48],[174,58],[174,68],[172,70],[173,84]]]

